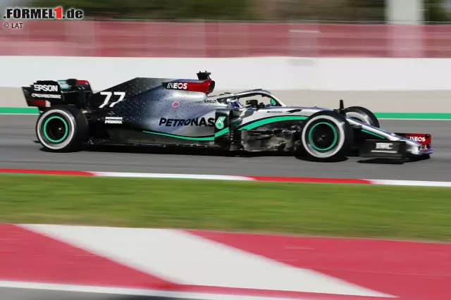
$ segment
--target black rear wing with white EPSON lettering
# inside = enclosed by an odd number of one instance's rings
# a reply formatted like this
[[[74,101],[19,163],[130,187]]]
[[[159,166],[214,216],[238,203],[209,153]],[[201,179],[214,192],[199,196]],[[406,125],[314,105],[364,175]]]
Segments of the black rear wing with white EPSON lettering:
[[[77,107],[86,106],[92,95],[87,80],[38,80],[30,87],[22,87],[28,106],[45,108],[60,104],[72,104]]]

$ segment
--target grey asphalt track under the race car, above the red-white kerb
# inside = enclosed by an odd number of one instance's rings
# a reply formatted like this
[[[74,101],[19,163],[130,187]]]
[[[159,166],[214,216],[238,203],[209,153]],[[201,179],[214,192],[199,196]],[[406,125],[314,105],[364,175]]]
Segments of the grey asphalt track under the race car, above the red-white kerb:
[[[381,120],[381,127],[392,132],[432,134],[431,159],[399,164],[358,157],[317,163],[295,156],[233,157],[199,149],[142,147],[54,154],[35,142],[36,119],[37,115],[0,115],[0,168],[451,181],[450,120]]]

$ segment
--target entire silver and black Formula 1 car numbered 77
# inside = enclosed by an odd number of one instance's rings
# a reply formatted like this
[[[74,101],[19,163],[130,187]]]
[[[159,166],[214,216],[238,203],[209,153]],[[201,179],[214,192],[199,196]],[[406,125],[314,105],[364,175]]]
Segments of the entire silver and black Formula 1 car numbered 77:
[[[50,151],[78,151],[84,144],[203,146],[288,151],[316,161],[353,153],[377,158],[433,153],[430,134],[382,130],[366,108],[344,108],[342,100],[338,109],[285,106],[265,89],[211,95],[210,75],[137,77],[95,93],[87,80],[77,79],[22,88],[28,106],[39,108],[37,138]]]

